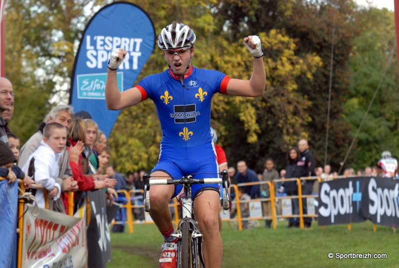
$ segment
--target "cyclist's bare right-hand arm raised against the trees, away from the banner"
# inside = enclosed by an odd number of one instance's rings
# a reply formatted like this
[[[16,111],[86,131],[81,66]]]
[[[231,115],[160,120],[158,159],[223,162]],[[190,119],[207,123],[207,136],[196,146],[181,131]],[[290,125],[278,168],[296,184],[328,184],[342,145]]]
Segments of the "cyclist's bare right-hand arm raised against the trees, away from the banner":
[[[251,36],[245,37],[244,42],[253,47]],[[227,84],[227,94],[243,97],[258,97],[265,92],[266,72],[263,57],[253,58],[253,71],[249,80],[231,79]]]

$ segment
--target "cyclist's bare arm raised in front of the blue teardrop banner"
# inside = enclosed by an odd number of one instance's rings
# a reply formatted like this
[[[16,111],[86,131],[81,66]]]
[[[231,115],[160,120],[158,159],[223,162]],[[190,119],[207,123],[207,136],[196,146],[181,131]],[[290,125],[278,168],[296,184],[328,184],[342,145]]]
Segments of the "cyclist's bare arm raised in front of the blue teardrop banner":
[[[126,53],[121,48],[119,50],[119,60],[122,60],[123,55],[126,55]],[[107,108],[110,110],[120,110],[139,103],[141,101],[141,93],[136,87],[123,92],[119,91],[116,72],[117,70],[108,68],[107,81],[105,83],[105,102],[107,103]]]

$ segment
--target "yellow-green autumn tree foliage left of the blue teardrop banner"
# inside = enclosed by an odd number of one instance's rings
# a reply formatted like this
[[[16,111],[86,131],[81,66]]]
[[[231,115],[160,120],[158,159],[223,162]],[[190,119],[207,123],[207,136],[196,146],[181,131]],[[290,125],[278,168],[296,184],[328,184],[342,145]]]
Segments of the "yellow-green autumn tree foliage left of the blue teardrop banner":
[[[12,0],[5,8],[5,75],[15,92],[10,129],[23,144],[68,96],[74,51],[101,0]],[[87,9],[86,9],[87,10]],[[60,100],[61,98],[61,100]],[[34,115],[34,116],[32,116]]]

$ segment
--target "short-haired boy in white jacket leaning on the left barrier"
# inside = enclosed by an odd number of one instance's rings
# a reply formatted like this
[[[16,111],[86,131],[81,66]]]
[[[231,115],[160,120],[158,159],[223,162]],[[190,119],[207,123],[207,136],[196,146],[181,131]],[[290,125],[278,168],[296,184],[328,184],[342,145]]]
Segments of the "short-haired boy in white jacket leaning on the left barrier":
[[[22,170],[32,177],[36,184],[48,191],[50,199],[57,200],[61,195],[61,186],[55,182],[58,178],[58,160],[66,144],[66,128],[59,123],[48,123],[43,129],[43,140],[31,154]],[[37,205],[45,207],[44,191],[37,189],[35,193]]]

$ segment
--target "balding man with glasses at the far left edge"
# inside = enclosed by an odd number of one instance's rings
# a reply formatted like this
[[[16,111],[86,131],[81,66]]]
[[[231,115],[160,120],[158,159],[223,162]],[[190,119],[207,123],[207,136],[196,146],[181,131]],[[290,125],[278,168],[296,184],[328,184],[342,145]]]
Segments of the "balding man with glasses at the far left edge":
[[[2,118],[2,114],[11,108],[14,102],[14,95],[11,82],[7,78],[0,77],[0,141],[5,143],[8,143],[7,123]]]

